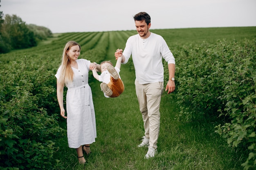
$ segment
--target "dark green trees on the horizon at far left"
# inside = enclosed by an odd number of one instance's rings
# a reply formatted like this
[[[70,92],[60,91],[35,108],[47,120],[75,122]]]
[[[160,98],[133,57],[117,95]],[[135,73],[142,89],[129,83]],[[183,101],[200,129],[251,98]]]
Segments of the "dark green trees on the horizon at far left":
[[[52,31],[48,28],[26,24],[17,15],[4,15],[0,11],[0,53],[37,46],[39,41],[49,37]]]

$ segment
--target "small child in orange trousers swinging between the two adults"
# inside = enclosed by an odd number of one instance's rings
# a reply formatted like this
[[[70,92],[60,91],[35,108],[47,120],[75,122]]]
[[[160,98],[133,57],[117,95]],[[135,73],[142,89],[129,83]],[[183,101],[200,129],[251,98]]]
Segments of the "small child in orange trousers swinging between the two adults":
[[[110,61],[101,62],[101,75],[98,75],[96,68],[92,70],[92,75],[101,83],[101,91],[105,97],[118,97],[124,92],[124,83],[120,78],[122,57],[117,59],[114,67]]]

